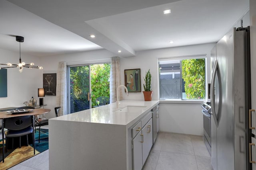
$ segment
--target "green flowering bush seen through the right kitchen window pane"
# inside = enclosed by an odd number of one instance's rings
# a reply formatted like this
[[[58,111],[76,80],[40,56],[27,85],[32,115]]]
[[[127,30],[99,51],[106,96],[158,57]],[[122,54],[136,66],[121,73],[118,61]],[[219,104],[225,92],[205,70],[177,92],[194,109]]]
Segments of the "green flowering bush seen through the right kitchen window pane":
[[[205,59],[182,60],[182,78],[187,99],[205,98]]]

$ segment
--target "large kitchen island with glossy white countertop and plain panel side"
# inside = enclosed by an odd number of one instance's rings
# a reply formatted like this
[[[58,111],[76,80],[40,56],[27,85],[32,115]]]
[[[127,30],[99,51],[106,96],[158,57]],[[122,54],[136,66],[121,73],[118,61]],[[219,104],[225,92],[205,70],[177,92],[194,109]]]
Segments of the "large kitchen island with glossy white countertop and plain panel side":
[[[133,128],[159,101],[120,103],[119,108],[113,103],[49,119],[50,170],[133,169]]]

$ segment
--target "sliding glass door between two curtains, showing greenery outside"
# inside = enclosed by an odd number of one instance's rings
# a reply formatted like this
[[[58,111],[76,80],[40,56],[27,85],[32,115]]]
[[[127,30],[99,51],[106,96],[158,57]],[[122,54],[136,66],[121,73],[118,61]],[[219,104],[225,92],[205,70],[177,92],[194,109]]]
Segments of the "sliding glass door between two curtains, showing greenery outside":
[[[68,66],[68,113],[109,104],[109,96],[110,63]]]

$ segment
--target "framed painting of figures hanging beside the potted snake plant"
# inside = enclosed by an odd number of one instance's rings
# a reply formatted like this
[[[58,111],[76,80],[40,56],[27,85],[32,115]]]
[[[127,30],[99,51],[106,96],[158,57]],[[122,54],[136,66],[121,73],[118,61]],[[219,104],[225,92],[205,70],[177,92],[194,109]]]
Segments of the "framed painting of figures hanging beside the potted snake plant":
[[[124,70],[124,84],[128,92],[141,92],[140,68]]]

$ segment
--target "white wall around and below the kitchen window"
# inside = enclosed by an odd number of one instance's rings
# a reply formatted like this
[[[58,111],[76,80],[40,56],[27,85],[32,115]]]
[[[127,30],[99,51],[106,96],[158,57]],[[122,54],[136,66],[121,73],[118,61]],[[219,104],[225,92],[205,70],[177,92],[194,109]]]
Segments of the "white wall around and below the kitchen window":
[[[150,69],[152,74],[152,100],[158,100],[158,58],[176,57],[187,55],[206,54],[207,56],[207,81],[210,82],[210,51],[215,43],[192,45],[184,47],[174,47],[166,49],[156,49],[140,51],[135,57],[121,58],[120,72],[121,84],[124,84],[124,70],[141,69],[141,78],[145,76],[145,71]],[[144,80],[142,78],[141,88],[143,91]],[[124,90],[122,90],[123,92]],[[126,100],[144,100],[142,92],[130,93]],[[203,115],[200,104],[188,103],[160,103],[160,131],[185,133],[192,135],[203,135]]]

